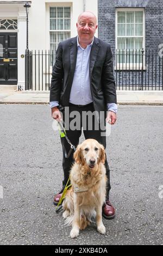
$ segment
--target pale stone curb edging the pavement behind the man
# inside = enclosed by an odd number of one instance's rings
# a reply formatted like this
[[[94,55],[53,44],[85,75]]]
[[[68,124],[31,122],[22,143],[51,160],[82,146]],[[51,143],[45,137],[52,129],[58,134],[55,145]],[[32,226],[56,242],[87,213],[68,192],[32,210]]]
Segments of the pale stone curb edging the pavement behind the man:
[[[21,105],[49,105],[48,101],[0,101],[0,104],[21,104]],[[141,106],[163,106],[162,101],[153,101],[153,102],[146,102],[146,101],[119,101],[117,105],[141,105]]]

